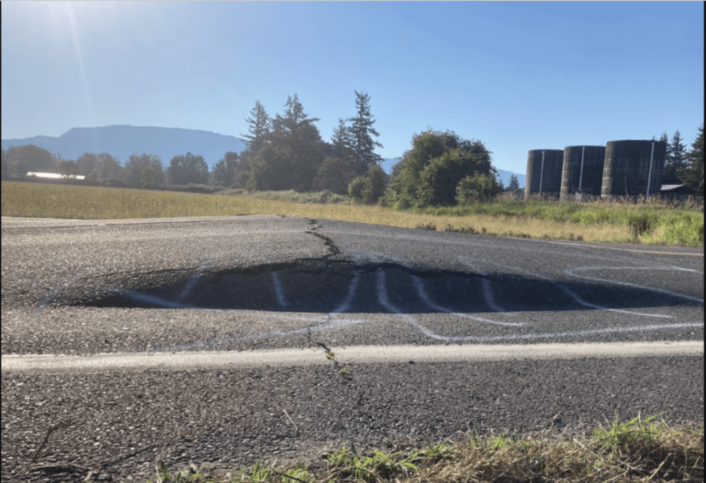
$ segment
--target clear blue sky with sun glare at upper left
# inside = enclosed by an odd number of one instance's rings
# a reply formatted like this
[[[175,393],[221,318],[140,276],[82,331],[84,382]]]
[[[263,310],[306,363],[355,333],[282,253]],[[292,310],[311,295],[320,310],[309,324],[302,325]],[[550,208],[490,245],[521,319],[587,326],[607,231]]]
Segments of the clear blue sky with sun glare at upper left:
[[[382,157],[427,128],[499,169],[704,121],[704,4],[2,2],[2,138],[162,126],[240,136],[288,95],[330,140],[371,97]]]

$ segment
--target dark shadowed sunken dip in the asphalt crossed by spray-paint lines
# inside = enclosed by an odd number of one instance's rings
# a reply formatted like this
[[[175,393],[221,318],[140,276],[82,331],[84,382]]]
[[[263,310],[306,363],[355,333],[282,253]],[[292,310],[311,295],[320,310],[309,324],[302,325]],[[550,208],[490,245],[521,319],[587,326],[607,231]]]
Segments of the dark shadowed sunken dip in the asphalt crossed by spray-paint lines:
[[[383,274],[381,282],[380,274]],[[385,301],[380,283],[384,283]],[[390,262],[298,260],[226,271],[126,272],[85,279],[45,306],[386,313],[635,309],[700,305],[677,294],[581,281],[472,271],[419,270]]]

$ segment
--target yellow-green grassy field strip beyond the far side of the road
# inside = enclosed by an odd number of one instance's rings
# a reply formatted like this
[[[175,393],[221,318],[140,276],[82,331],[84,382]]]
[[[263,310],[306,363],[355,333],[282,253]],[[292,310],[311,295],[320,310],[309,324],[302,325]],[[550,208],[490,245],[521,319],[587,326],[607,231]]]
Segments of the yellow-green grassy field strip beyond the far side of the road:
[[[12,182],[2,183],[2,214],[63,219],[282,214],[520,238],[686,246],[703,246],[704,224],[702,207],[674,209],[505,200],[400,212],[352,204],[345,197],[326,193],[202,195]]]

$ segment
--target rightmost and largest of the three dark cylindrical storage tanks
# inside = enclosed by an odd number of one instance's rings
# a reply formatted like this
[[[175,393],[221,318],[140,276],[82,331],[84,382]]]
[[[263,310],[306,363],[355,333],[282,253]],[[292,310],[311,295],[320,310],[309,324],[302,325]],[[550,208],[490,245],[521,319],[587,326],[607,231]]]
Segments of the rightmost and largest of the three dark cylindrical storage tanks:
[[[609,141],[603,166],[602,197],[650,196],[659,193],[666,142]]]

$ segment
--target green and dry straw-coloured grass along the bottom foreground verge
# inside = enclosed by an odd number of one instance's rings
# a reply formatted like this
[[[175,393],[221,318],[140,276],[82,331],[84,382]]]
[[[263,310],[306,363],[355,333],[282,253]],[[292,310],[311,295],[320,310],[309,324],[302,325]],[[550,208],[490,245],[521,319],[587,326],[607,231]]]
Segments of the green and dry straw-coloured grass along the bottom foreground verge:
[[[150,482],[696,482],[704,478],[704,432],[678,431],[664,422],[635,417],[594,429],[587,439],[548,441],[469,434],[462,444],[428,445],[405,454],[356,447],[330,451],[319,469],[275,463],[209,475],[191,465],[170,472],[157,462]]]

